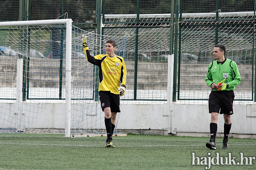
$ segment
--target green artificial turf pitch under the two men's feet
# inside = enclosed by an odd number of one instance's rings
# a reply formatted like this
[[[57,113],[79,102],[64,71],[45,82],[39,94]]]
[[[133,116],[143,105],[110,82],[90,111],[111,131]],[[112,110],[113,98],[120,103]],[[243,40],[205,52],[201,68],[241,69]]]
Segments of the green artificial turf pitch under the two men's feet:
[[[134,135],[113,137],[116,147],[105,147],[106,137],[66,138],[56,134],[0,133],[0,170],[204,170],[191,165],[195,156],[227,157],[240,153],[256,157],[256,139],[229,139],[229,150],[209,150],[209,138]],[[210,153],[209,153],[210,152]],[[208,156],[209,157],[209,156]],[[201,159],[200,159],[201,160]],[[203,160],[203,159],[202,159]],[[248,159],[249,160],[249,159]],[[246,161],[246,159],[244,159]],[[205,162],[203,162],[205,163]],[[211,170],[255,170],[253,165],[211,165]]]

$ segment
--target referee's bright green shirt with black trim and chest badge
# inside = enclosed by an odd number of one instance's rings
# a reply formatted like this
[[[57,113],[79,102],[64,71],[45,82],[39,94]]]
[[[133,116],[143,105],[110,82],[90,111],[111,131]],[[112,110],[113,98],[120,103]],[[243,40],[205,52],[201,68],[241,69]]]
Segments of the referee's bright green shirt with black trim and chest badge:
[[[211,62],[205,79],[207,85],[211,87],[212,83],[218,84],[225,78],[224,83],[227,83],[225,91],[235,90],[235,87],[240,84],[241,76],[236,62],[227,58],[223,62],[217,60]],[[212,91],[218,91],[218,88],[212,89]]]

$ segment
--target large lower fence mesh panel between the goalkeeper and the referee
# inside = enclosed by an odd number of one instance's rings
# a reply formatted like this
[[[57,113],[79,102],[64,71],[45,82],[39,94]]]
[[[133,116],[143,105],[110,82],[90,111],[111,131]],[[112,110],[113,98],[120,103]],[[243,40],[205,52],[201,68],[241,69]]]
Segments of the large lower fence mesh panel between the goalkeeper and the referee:
[[[169,27],[104,28],[104,35],[127,36],[126,86],[132,93],[125,93],[123,99],[167,99],[169,31]],[[136,45],[136,38],[138,38],[138,45]]]

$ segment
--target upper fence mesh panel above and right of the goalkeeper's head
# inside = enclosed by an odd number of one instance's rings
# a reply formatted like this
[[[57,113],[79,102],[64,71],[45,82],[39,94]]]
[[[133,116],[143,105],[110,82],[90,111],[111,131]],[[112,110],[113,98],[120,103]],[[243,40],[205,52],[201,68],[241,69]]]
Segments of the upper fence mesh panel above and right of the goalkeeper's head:
[[[170,13],[171,0],[103,1],[103,23],[166,23]]]

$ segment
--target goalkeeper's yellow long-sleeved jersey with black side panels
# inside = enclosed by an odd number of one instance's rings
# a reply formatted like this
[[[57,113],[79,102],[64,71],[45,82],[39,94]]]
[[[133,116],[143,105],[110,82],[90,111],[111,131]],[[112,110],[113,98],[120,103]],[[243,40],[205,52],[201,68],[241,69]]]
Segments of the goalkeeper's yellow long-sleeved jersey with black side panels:
[[[84,50],[88,62],[99,66],[99,91],[110,91],[119,94],[118,88],[126,84],[126,67],[124,59],[108,54],[91,56],[89,50]]]

